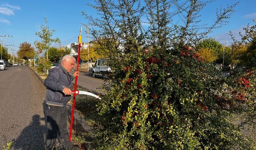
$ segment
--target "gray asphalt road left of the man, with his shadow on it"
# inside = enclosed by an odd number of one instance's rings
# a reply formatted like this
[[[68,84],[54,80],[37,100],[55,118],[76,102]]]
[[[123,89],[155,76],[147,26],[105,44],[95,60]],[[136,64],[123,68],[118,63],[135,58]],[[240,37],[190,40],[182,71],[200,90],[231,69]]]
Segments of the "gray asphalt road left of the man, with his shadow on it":
[[[0,70],[0,149],[44,149],[46,123],[45,90],[26,66]]]

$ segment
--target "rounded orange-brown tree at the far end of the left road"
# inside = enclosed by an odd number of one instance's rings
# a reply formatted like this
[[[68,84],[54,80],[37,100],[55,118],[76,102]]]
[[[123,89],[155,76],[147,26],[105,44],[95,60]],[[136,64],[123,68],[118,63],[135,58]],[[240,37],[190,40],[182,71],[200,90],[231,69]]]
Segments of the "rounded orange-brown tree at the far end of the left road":
[[[17,54],[19,58],[28,60],[34,58],[35,51],[30,43],[23,42],[20,44]]]

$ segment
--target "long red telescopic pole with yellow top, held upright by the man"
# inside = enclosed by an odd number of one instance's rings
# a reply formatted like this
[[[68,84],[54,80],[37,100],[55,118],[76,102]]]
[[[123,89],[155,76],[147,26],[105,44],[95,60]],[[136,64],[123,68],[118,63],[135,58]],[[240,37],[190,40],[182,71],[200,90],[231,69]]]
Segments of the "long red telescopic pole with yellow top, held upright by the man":
[[[76,68],[76,71],[79,70],[80,47],[81,47],[81,41],[82,41],[82,36],[81,35],[82,35],[82,26],[80,28],[80,36],[78,36],[78,43],[79,43],[79,45],[78,45],[78,56],[77,56],[77,68]],[[78,76],[76,76],[74,91],[76,91],[77,78],[78,78]],[[73,106],[72,106],[72,114],[71,114],[71,122],[70,122],[70,132],[69,132],[69,141],[71,141],[71,136],[72,136],[72,126],[73,126],[73,119],[74,119],[75,102],[76,102],[76,93],[74,93],[74,97],[73,97]]]

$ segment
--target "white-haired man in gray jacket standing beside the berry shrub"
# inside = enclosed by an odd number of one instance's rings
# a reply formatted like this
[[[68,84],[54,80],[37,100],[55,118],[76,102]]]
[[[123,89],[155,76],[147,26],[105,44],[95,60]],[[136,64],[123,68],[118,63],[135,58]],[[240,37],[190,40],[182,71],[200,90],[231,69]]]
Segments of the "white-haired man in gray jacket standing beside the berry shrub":
[[[74,72],[73,76],[69,72],[74,68],[76,59],[71,55],[65,55],[61,64],[50,70],[49,75],[44,80],[46,86],[46,106],[47,106],[47,139],[46,148],[52,150],[58,138],[63,148],[69,150],[77,149],[69,141],[67,130],[67,108],[66,104],[71,99],[71,82],[79,72]]]

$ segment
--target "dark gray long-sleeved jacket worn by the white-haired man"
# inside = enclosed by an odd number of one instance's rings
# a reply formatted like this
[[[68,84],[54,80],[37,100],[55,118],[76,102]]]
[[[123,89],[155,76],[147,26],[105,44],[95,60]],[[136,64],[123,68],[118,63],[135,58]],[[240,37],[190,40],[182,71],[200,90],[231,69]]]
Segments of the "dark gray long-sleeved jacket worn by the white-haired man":
[[[50,70],[44,80],[46,86],[46,104],[52,106],[65,106],[70,101],[71,96],[62,92],[67,87],[71,89],[71,82],[74,79],[62,65],[56,66]]]

